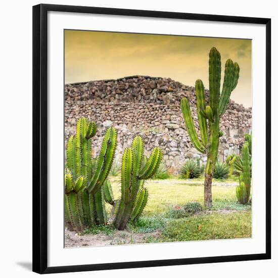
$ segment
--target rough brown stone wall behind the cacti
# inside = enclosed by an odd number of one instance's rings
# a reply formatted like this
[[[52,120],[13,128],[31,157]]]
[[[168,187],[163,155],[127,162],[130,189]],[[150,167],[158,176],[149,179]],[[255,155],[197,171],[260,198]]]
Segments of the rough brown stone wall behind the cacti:
[[[208,102],[209,92],[206,90]],[[187,97],[195,126],[195,88],[183,85],[170,78],[131,76],[117,80],[100,80],[65,85],[65,140],[74,134],[75,124],[84,116],[96,121],[98,133],[94,137],[94,149],[99,151],[102,137],[108,126],[116,127],[118,145],[116,159],[121,160],[125,147],[135,135],[141,135],[145,150],[160,146],[163,159],[173,173],[177,173],[183,162],[189,158],[201,158],[184,127],[179,109],[180,99]],[[252,110],[230,101],[221,118],[219,161],[227,154],[239,154],[244,133],[251,132]]]

